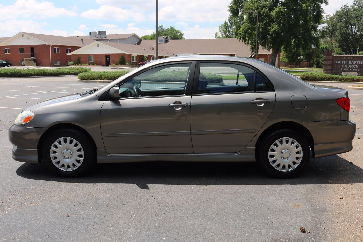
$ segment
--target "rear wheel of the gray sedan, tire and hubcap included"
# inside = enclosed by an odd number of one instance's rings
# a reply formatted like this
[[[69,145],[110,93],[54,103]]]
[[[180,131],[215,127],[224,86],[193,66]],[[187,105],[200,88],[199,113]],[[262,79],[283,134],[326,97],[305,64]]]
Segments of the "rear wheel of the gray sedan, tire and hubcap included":
[[[292,129],[278,130],[265,136],[256,151],[260,166],[277,178],[295,176],[310,158],[306,138]]]

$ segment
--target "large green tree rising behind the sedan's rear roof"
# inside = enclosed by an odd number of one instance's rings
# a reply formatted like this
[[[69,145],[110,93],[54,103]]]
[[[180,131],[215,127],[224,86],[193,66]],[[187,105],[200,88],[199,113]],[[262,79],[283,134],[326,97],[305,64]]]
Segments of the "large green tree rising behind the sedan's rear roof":
[[[246,11],[258,11],[258,43],[264,49],[272,49],[270,64],[275,65],[282,47],[299,51],[318,45],[316,32],[324,13],[322,4],[327,4],[327,0],[233,0],[229,12],[238,20],[236,37],[250,45],[253,52],[256,13]]]

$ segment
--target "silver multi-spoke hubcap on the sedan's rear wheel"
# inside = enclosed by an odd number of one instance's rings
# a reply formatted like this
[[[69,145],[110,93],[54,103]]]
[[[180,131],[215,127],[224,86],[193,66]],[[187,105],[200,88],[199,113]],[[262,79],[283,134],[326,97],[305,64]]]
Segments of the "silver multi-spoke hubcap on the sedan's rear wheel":
[[[289,172],[297,168],[302,160],[301,145],[293,138],[280,138],[270,146],[268,158],[273,168]]]

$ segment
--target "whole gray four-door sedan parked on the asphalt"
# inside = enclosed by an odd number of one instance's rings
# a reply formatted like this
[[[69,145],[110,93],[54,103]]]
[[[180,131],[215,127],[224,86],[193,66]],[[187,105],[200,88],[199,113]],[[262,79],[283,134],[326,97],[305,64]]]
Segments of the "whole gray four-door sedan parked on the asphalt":
[[[137,161],[257,161],[291,177],[310,156],[352,149],[349,110],[347,90],[309,85],[262,61],[172,57],[26,108],[9,140],[15,160],[67,177]]]

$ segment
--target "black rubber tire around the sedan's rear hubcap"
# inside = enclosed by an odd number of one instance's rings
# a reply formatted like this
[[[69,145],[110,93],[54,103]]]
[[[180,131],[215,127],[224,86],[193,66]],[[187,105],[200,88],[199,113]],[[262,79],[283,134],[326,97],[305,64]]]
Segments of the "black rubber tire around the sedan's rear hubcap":
[[[269,161],[269,158],[274,159],[274,155],[270,155],[269,151],[275,152],[272,148],[272,145],[275,144],[276,141],[282,139],[282,138],[291,138],[292,140],[297,141],[296,146],[293,143],[293,141],[290,143],[292,147],[291,150],[288,150],[287,152],[285,149],[281,150],[276,149],[276,154],[278,155],[276,157],[276,160]],[[285,140],[286,143],[288,140]],[[280,140],[281,142],[284,142],[283,140]],[[269,175],[276,177],[276,178],[290,178],[296,176],[303,168],[305,168],[306,164],[309,162],[310,159],[310,148],[309,148],[309,142],[307,142],[306,138],[299,132],[293,129],[281,129],[277,130],[275,132],[272,132],[268,134],[267,136],[263,137],[260,141],[261,144],[257,146],[256,149],[256,158],[258,164],[262,167],[262,169],[267,172]],[[301,147],[302,157],[301,160],[295,160],[293,157],[289,156],[289,151],[292,151],[291,153],[299,153],[299,151],[295,152],[293,149],[297,148],[297,144]],[[281,146],[282,147],[282,146]],[[298,150],[298,149],[297,149]],[[280,152],[283,152],[281,154]],[[272,153],[271,153],[272,154]],[[299,155],[299,154],[295,154]],[[294,156],[294,154],[291,154],[291,156]],[[284,157],[284,159],[282,159]],[[289,161],[290,159],[290,161]],[[300,159],[300,158],[297,158]],[[294,163],[293,161],[299,161],[299,163]],[[280,164],[277,164],[281,162]],[[290,164],[285,165],[284,162],[292,162],[294,165],[294,168],[291,167]],[[284,163],[284,165],[281,165]],[[273,167],[273,165],[277,164],[276,168]],[[281,169],[278,170],[280,168]],[[291,170],[290,170],[291,169]]]

